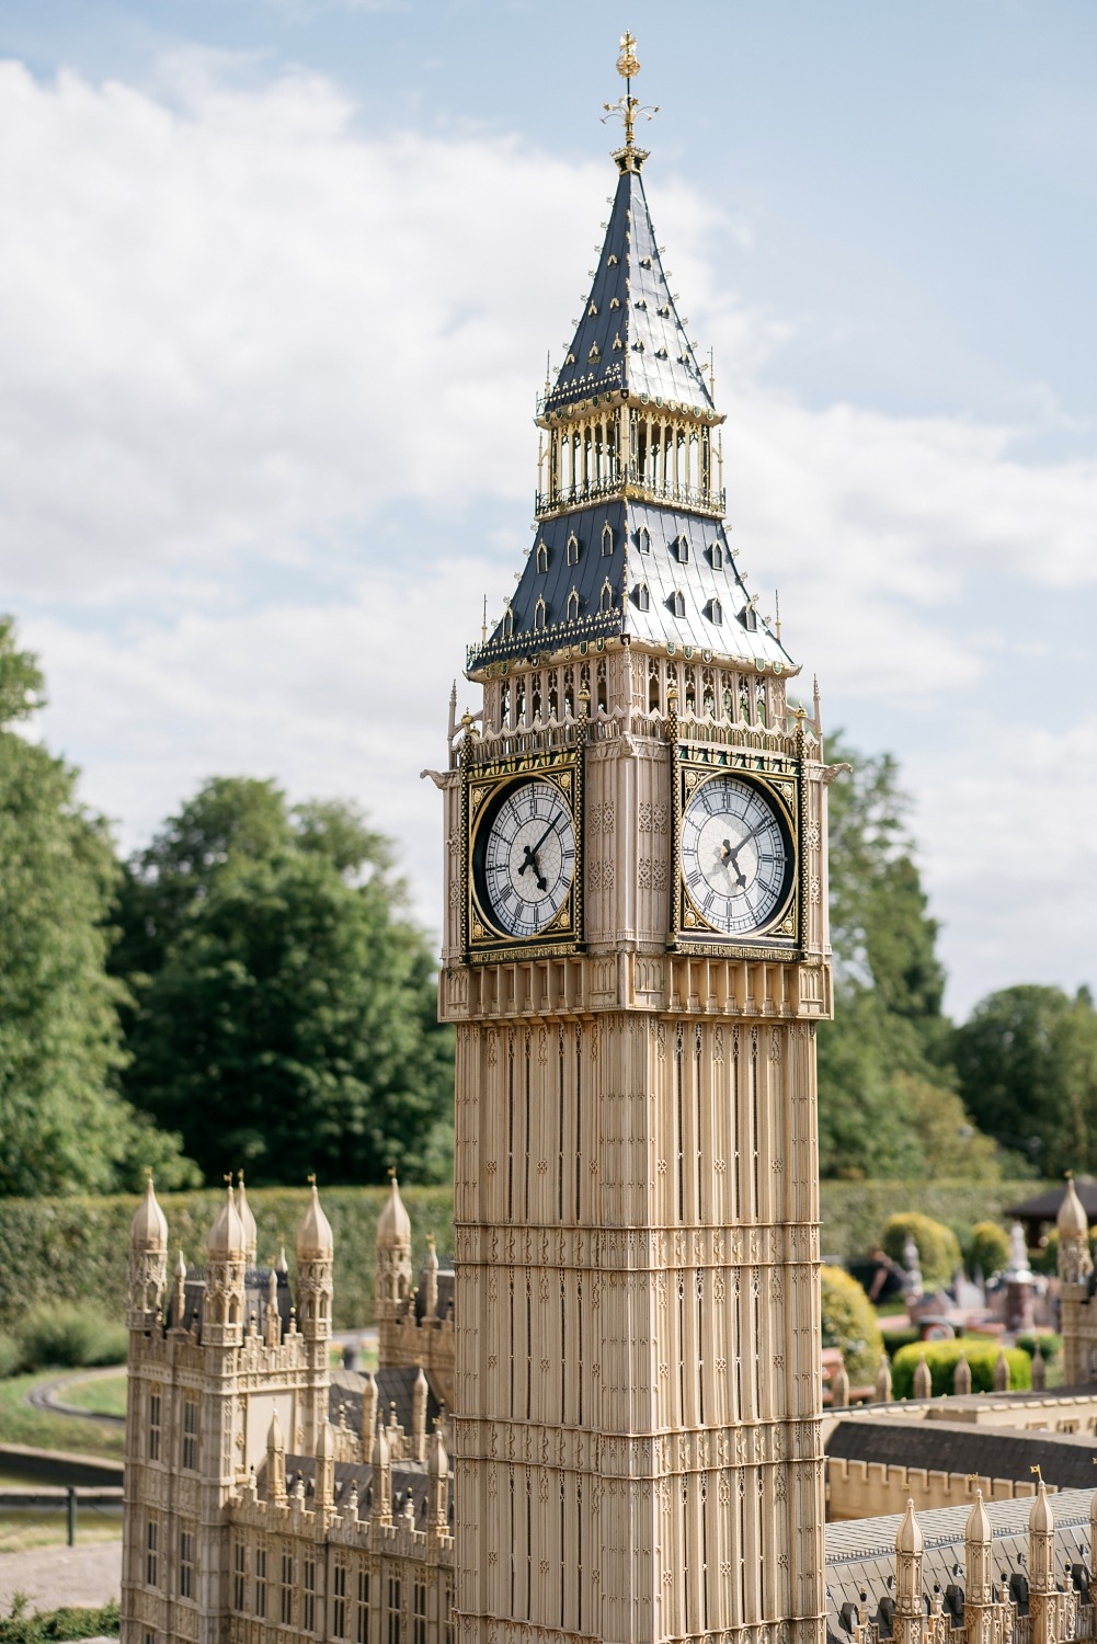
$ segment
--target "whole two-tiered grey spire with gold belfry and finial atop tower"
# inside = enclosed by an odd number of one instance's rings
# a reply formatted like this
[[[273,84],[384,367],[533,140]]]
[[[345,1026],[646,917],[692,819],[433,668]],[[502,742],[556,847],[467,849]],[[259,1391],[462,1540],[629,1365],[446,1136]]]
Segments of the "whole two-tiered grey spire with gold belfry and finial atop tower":
[[[536,418],[538,539],[472,676],[492,663],[628,638],[794,671],[747,592],[724,526],[724,459],[711,378],[663,268],[643,191],[636,41],[622,39],[625,95],[607,118],[625,146],[605,240],[571,345]]]

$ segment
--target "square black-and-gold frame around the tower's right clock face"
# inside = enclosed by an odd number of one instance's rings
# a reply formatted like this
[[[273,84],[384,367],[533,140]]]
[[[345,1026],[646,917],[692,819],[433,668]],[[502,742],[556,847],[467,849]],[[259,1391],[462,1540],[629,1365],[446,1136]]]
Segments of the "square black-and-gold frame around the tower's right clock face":
[[[793,868],[788,894],[773,919],[758,932],[729,935],[709,924],[694,904],[683,873],[683,819],[694,796],[719,776],[734,776],[750,787],[760,789],[766,802],[780,814],[793,847]],[[799,761],[780,755],[755,755],[732,748],[691,748],[679,743],[674,750],[674,863],[671,935],[668,947],[678,952],[697,954],[704,958],[765,958],[794,960],[799,957],[804,929],[804,886],[801,822],[804,784]]]

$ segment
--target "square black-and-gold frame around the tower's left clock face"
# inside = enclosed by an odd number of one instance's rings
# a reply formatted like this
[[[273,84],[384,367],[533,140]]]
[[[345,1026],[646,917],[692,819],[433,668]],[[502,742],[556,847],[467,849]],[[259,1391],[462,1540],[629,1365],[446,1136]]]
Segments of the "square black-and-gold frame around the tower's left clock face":
[[[505,789],[530,781],[554,783],[567,802],[576,834],[576,866],[567,894],[543,932],[533,937],[511,937],[492,924],[487,909],[480,907],[475,888],[474,853],[484,817],[492,810],[492,801]],[[513,760],[495,760],[465,768],[462,794],[462,860],[461,860],[461,945],[465,963],[495,965],[515,958],[564,958],[582,949],[582,748],[566,748],[549,753],[531,753]]]

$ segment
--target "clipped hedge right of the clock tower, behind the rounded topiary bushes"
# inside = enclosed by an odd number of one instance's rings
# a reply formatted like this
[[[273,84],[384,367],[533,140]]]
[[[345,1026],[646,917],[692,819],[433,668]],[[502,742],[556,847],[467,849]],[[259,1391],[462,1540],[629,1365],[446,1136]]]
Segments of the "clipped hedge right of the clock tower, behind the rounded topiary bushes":
[[[860,1256],[880,1241],[883,1223],[898,1208],[918,1207],[954,1231],[975,1221],[1005,1221],[1005,1207],[1030,1198],[1054,1182],[821,1182],[822,1249],[834,1256]],[[952,1274],[949,1274],[952,1277]]]

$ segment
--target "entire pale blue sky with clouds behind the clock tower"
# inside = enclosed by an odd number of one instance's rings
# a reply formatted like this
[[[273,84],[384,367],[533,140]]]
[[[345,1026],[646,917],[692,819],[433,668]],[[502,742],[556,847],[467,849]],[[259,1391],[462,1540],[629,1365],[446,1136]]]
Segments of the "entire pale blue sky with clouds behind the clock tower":
[[[916,794],[949,1003],[1097,981],[1097,12],[1059,0],[0,15],[0,549],[127,843],[345,792],[436,922],[449,679],[528,546],[636,90],[729,516]]]

